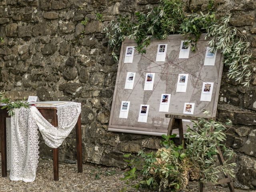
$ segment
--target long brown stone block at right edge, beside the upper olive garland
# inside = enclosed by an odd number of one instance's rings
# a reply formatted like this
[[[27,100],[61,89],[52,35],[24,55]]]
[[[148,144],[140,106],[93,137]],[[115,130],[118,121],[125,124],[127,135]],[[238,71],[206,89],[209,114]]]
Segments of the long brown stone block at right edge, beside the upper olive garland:
[[[232,18],[230,18],[230,24],[232,26],[254,25],[255,22],[256,20],[254,12],[252,12],[251,14],[234,14]]]

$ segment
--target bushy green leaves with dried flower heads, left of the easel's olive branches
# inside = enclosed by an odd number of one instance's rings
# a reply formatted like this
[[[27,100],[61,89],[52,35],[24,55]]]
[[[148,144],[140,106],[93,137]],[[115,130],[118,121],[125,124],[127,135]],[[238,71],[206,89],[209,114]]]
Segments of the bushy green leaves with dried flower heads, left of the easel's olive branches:
[[[172,136],[173,137],[173,136]],[[160,148],[158,152],[146,154],[140,151],[136,156],[125,155],[132,168],[124,174],[123,180],[137,179],[142,175],[135,188],[142,186],[158,188],[159,191],[168,189],[177,191],[186,188],[188,184],[188,158],[182,146],[176,147],[167,137],[168,148]]]

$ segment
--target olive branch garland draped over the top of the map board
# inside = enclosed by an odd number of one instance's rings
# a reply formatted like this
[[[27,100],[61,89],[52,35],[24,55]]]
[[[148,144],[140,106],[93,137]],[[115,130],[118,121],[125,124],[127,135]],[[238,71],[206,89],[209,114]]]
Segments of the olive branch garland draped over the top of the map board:
[[[136,50],[143,54],[152,38],[165,39],[174,33],[184,35],[195,51],[200,36],[206,33],[205,39],[210,40],[212,51],[219,50],[224,55],[224,64],[229,69],[228,78],[248,86],[252,74],[250,44],[237,28],[228,26],[230,15],[216,20],[214,0],[209,0],[207,14],[188,14],[183,8],[182,0],[160,0],[159,5],[149,7],[148,12],[136,12],[132,21],[123,16],[111,21],[104,31],[113,48],[114,59],[118,60],[116,52],[126,36],[137,43]]]

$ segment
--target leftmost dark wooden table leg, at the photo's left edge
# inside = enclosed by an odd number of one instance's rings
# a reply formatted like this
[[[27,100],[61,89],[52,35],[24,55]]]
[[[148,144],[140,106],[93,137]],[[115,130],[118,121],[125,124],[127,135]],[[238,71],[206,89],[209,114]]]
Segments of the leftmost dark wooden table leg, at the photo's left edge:
[[[6,159],[6,118],[0,116],[0,136],[1,136],[1,159],[2,159],[2,177],[7,177],[7,159]]]

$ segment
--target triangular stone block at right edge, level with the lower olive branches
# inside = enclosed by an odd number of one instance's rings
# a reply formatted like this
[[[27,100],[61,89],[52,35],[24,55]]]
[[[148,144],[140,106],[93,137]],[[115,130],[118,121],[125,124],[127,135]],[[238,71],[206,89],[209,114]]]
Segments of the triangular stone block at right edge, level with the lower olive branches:
[[[241,152],[244,152],[247,155],[256,157],[256,130],[252,130],[248,136],[248,139],[240,148]]]

